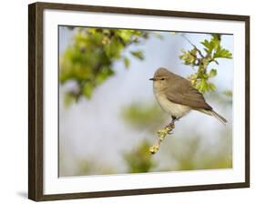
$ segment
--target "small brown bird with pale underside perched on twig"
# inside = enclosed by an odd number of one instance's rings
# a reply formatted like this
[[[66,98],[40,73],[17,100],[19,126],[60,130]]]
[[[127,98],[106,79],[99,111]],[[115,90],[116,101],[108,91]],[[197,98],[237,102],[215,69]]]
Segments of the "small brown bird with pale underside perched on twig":
[[[216,117],[223,124],[227,123],[224,117],[221,117],[206,103],[203,95],[192,87],[186,78],[175,75],[161,67],[156,71],[154,77],[149,80],[154,81],[155,97],[160,107],[172,117],[172,121],[184,117],[193,109]]]

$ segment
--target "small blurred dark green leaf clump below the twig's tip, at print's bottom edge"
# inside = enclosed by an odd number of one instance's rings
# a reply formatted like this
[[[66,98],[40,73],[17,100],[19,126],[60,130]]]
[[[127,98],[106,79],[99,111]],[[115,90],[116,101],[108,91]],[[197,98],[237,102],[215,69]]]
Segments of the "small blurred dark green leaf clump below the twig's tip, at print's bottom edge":
[[[142,141],[137,148],[124,154],[129,173],[145,173],[156,167],[156,163],[148,151],[149,147],[148,141]]]

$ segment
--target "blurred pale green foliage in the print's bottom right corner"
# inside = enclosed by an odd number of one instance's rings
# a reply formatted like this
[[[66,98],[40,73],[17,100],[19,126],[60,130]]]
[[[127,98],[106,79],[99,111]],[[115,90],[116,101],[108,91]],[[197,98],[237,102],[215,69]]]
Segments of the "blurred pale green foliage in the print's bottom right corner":
[[[208,145],[208,148],[205,148],[205,138],[197,134],[170,138],[169,144],[161,150],[162,154],[174,159],[175,165],[169,165],[165,170],[232,168],[230,132],[222,132],[220,137],[214,146]]]

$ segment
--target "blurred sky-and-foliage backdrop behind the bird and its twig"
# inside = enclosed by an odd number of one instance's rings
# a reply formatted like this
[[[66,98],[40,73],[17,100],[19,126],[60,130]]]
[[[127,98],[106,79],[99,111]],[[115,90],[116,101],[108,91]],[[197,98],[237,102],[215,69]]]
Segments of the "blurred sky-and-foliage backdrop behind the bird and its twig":
[[[70,26],[58,34],[60,177],[232,168],[231,57],[223,52],[209,63],[209,88],[199,87],[228,124],[191,111],[155,155],[148,148],[171,118],[148,79],[160,66],[184,77],[198,73],[189,51],[196,46],[206,55],[207,43],[221,36],[233,53],[233,36]]]

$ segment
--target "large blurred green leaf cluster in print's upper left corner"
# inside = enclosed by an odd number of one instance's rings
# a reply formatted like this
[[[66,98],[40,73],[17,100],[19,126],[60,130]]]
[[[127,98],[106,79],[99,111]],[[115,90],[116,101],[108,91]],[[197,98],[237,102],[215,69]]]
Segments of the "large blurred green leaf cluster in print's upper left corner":
[[[144,59],[141,50],[124,49],[148,38],[148,32],[128,29],[77,28],[72,45],[60,57],[59,80],[63,85],[75,81],[77,87],[67,92],[66,104],[80,97],[90,98],[93,90],[113,76],[113,64],[123,60],[129,66],[129,56]]]

